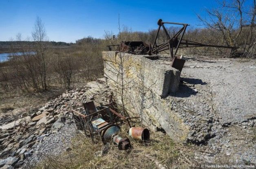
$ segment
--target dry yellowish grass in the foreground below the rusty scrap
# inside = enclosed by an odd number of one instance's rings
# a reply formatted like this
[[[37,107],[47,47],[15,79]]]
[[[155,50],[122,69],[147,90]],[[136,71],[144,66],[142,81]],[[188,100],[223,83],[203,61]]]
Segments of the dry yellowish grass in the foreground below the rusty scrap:
[[[127,137],[125,129],[120,135]],[[191,165],[188,160],[191,153],[184,145],[174,143],[160,132],[152,132],[150,137],[147,144],[129,138],[132,149],[127,151],[120,151],[111,143],[105,156],[96,157],[95,153],[104,146],[102,142],[93,144],[89,138],[79,135],[73,139],[70,152],[47,157],[35,169],[187,169]]]

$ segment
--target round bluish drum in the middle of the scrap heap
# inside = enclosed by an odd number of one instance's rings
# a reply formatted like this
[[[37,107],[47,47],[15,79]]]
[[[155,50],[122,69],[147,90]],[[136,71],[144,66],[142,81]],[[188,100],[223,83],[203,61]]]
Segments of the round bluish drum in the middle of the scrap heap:
[[[113,136],[117,135],[120,130],[121,129],[117,124],[111,124],[107,126],[106,128],[104,128],[104,130],[102,130],[101,133],[102,142],[107,143]]]

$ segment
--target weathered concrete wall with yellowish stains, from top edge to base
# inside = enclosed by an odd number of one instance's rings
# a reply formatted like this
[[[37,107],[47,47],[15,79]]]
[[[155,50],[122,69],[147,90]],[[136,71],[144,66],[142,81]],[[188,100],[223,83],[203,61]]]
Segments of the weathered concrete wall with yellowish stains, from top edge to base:
[[[163,128],[174,140],[185,140],[186,126],[179,114],[172,111],[166,99],[179,88],[180,71],[157,57],[103,51],[104,76],[117,101],[132,116],[140,116],[144,125]]]

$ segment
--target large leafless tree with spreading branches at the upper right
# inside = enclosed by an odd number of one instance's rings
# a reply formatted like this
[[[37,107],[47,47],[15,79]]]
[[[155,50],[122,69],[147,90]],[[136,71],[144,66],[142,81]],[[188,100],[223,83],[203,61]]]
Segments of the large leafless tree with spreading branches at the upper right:
[[[221,35],[225,45],[240,47],[243,54],[254,55],[256,2],[250,3],[246,6],[245,0],[223,0],[218,2],[219,7],[206,9],[207,17],[198,17],[212,32]]]

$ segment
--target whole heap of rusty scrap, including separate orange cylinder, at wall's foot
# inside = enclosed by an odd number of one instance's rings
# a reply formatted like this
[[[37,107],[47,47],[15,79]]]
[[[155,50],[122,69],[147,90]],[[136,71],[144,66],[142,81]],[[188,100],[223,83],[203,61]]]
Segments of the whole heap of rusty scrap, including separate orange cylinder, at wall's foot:
[[[113,141],[119,150],[131,148],[130,139],[118,135],[122,122],[126,122],[130,128],[129,135],[132,138],[143,142],[149,140],[150,132],[147,128],[131,127],[129,122],[131,118],[122,116],[109,106],[95,107],[94,102],[90,101],[83,103],[84,109],[81,112],[72,109],[77,128],[89,135],[93,143],[96,143],[95,136],[100,135],[104,144]]]

